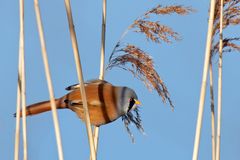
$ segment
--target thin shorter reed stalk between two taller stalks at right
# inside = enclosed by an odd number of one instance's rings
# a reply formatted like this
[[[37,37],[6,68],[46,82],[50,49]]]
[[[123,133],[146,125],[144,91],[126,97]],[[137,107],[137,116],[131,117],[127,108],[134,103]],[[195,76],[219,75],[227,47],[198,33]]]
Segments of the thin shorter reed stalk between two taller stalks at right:
[[[212,69],[211,60],[209,65],[209,81],[210,81],[210,98],[211,98],[212,160],[215,160],[215,156],[216,156],[215,111],[214,111],[214,91],[213,91],[213,69]]]

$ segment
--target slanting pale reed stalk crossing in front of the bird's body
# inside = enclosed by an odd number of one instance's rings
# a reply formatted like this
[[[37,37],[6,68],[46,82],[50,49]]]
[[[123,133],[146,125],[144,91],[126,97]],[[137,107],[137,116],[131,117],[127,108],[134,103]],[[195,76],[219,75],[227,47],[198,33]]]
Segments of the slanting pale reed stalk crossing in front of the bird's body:
[[[92,160],[96,160],[96,152],[95,152],[94,141],[93,141],[93,133],[92,133],[92,128],[91,128],[91,124],[90,124],[90,117],[89,117],[88,106],[87,106],[87,98],[86,98],[86,93],[85,93],[85,88],[84,88],[82,66],[81,66],[81,61],[80,61],[80,56],[79,56],[79,51],[78,51],[77,37],[76,37],[75,30],[74,30],[74,25],[73,25],[71,4],[70,4],[69,0],[65,0],[65,7],[66,7],[66,12],[67,12],[67,17],[68,17],[69,31],[70,31],[71,41],[72,41],[72,48],[73,48],[74,59],[75,59],[75,63],[76,63],[77,75],[78,75],[78,80],[79,80],[79,84],[80,84],[80,93],[81,93],[82,100],[83,100],[83,109],[84,109],[84,115],[85,115],[85,124],[86,124],[86,128],[87,128],[87,133],[88,133],[88,141],[89,141],[89,145],[90,145],[90,153],[91,153]]]

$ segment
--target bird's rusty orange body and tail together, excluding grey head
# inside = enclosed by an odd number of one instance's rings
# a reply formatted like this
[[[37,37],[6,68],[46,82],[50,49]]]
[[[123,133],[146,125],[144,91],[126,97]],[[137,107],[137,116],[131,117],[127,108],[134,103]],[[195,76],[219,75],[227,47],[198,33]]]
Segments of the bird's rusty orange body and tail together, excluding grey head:
[[[119,87],[110,83],[89,83],[85,85],[90,122],[100,126],[110,123],[121,117],[124,113],[117,108]],[[65,96],[56,99],[57,109],[71,109],[79,118],[85,120],[82,97],[79,89],[75,89]],[[50,101],[35,103],[26,107],[26,115],[36,115],[51,110]],[[16,116],[16,114],[15,114]],[[22,116],[22,111],[20,112]]]

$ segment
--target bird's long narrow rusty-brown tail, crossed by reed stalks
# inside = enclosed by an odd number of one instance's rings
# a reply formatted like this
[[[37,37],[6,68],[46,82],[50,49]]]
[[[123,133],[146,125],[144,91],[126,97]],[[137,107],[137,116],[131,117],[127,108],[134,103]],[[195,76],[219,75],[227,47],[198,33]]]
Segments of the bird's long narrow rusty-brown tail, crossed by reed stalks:
[[[62,98],[56,99],[55,103],[56,103],[57,109],[66,108],[66,103],[62,102]],[[39,103],[35,103],[35,104],[27,106],[26,107],[26,116],[35,115],[35,114],[47,112],[50,110],[52,110],[50,101],[43,101],[43,102],[39,102]],[[21,110],[20,117],[22,117],[22,115],[23,115],[23,112]],[[16,113],[14,113],[14,117],[16,117]]]

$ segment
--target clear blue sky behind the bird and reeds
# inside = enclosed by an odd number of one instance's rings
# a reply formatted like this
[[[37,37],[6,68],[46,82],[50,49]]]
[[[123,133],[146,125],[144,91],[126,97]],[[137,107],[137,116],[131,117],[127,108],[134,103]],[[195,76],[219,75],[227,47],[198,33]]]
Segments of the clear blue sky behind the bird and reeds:
[[[18,1],[0,1],[0,159],[13,159],[16,109],[19,9]],[[129,32],[125,42],[134,43],[151,53],[158,73],[167,85],[175,104],[172,112],[158,94],[149,92],[139,80],[120,69],[106,73],[106,80],[133,88],[142,102],[141,116],[147,135],[131,126],[136,143],[132,144],[119,119],[101,127],[98,159],[191,159],[195,136],[200,85],[208,20],[209,1],[146,1],[122,0],[107,3],[106,62],[132,21],[156,6],[182,4],[192,6],[188,16],[159,17],[162,24],[181,34],[182,40],[172,44],[153,44],[143,36]],[[45,38],[55,96],[67,92],[64,88],[77,82],[64,1],[40,1]],[[101,1],[72,1],[74,24],[82,59],[84,79],[99,74],[101,36]],[[48,99],[33,1],[25,2],[25,54],[27,104]],[[240,34],[239,27],[224,35]],[[240,67],[239,53],[223,57],[222,147],[223,160],[240,157]],[[217,57],[213,60],[215,93],[217,87]],[[208,85],[209,87],[209,85]],[[209,91],[209,89],[207,89]],[[58,111],[65,159],[88,159],[89,147],[84,123],[69,110]],[[50,112],[27,118],[29,159],[58,159],[52,115]],[[22,151],[21,151],[22,155]],[[199,159],[211,158],[210,100],[206,96]]]

